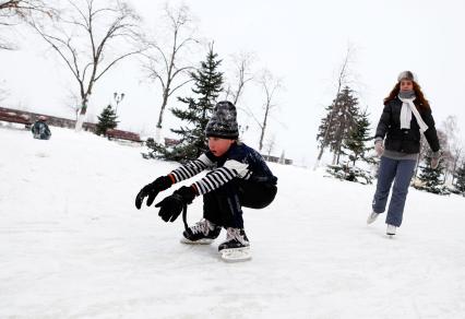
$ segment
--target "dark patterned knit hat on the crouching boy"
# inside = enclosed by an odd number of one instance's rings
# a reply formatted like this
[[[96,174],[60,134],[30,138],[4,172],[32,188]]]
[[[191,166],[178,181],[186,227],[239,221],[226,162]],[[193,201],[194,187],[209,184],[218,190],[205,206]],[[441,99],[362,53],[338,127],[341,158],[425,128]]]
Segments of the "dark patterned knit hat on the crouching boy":
[[[218,102],[205,128],[207,138],[235,140],[239,137],[236,107],[229,101]]]

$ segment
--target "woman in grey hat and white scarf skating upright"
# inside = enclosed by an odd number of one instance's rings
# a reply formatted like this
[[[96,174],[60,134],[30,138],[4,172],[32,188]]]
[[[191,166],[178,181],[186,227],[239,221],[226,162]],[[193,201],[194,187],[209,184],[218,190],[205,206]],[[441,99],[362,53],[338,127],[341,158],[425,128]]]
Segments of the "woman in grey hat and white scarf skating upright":
[[[385,211],[394,181],[386,216],[386,234],[390,236],[395,235],[396,228],[402,224],[408,186],[420,152],[421,132],[433,152],[431,166],[437,168],[440,146],[431,108],[414,73],[404,71],[398,75],[397,84],[391,94],[384,98],[383,114],[377,127],[374,150],[378,156],[382,156],[372,203],[373,211],[367,220],[367,223],[371,224]]]

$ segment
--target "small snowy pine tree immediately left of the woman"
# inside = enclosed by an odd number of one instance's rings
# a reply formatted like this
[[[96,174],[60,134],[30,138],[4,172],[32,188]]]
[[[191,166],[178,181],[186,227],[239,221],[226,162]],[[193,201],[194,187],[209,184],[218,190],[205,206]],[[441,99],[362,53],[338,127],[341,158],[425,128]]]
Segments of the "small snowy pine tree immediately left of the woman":
[[[341,154],[347,155],[353,166],[359,160],[369,164],[374,163],[372,157],[367,156],[367,153],[374,149],[372,145],[367,146],[367,143],[373,139],[370,134],[368,116],[366,110],[357,115],[355,126],[342,145]]]

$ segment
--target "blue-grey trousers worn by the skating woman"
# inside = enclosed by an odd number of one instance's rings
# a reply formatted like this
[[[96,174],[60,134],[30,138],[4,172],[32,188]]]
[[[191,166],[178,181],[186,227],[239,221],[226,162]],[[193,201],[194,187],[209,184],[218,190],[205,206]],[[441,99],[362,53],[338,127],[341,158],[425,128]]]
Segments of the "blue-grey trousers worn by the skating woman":
[[[408,193],[408,186],[414,176],[415,160],[392,160],[382,156],[380,169],[378,173],[377,192],[373,198],[373,212],[383,213],[386,208],[391,185],[392,189],[391,202],[389,204],[386,224],[396,227],[402,224],[402,215],[404,214],[405,200]]]

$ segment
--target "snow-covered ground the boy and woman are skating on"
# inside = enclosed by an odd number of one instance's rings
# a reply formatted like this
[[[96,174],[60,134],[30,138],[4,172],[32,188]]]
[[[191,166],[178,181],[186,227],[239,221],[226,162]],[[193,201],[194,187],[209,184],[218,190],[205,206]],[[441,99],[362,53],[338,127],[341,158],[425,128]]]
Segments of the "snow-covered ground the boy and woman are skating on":
[[[276,201],[245,211],[253,259],[231,264],[135,210],[175,164],[52,133],[0,127],[0,318],[465,318],[464,198],[412,189],[389,239],[366,225],[373,186],[272,165]]]

